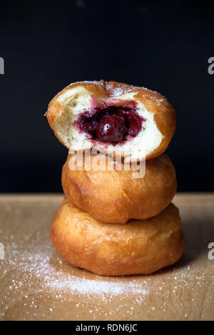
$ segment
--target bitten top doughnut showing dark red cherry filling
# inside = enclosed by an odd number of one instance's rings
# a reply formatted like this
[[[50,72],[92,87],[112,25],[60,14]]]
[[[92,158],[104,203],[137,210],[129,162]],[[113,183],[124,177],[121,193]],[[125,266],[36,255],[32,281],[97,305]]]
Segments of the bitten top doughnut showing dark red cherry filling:
[[[68,149],[96,148],[142,160],[164,153],[175,132],[175,113],[157,92],[114,81],[72,83],[46,112]]]

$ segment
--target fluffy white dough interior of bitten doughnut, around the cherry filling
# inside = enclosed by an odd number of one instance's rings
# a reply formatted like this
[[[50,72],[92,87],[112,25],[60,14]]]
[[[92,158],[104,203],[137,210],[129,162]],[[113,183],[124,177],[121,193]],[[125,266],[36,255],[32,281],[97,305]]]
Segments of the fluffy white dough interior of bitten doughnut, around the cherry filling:
[[[136,113],[144,118],[141,131],[135,138],[126,140],[125,143],[116,145],[108,144],[109,153],[126,153],[126,155],[130,155],[133,160],[142,159],[153,152],[153,150],[156,150],[163,139],[163,135],[158,130],[154,120],[154,114],[149,112],[143,103],[135,99],[136,94],[137,92],[130,92],[118,98],[124,101],[137,101]],[[97,100],[98,103],[103,103],[105,99],[106,97],[103,97],[103,99],[98,98]],[[73,122],[76,121],[80,113],[92,108],[92,98],[86,88],[71,88],[58,96],[57,100],[59,103],[63,103],[64,109],[61,110],[61,115],[56,119],[56,133],[68,148],[72,150],[86,150],[96,146],[99,150],[99,148],[105,148],[107,146],[106,143],[98,141],[96,145],[94,145],[91,140],[88,140],[86,133],[79,132],[79,130],[73,126]],[[124,102],[124,104],[126,104],[126,102]]]

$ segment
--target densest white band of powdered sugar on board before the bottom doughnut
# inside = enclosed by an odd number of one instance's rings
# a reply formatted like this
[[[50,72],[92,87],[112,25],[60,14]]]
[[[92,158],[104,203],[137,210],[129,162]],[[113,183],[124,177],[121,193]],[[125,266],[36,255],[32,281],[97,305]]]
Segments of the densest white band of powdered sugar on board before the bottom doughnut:
[[[33,247],[34,241],[31,241],[31,248]],[[21,259],[19,259],[17,270],[19,273],[23,273],[23,278],[31,276],[36,277],[40,281],[44,282],[46,287],[49,287],[53,292],[78,292],[79,294],[147,294],[148,290],[145,289],[145,283],[138,284],[133,279],[132,281],[121,281],[112,282],[108,280],[108,277],[103,277],[102,280],[88,279],[85,277],[78,277],[74,274],[64,272],[62,269],[56,269],[56,266],[51,265],[51,257],[53,256],[54,249],[50,244],[46,244],[44,248],[35,251],[24,250],[21,253]],[[14,249],[10,252],[11,257],[9,259],[10,264],[15,264],[15,259],[19,257],[19,251]],[[58,258],[58,264],[62,264],[62,260]],[[16,287],[21,287],[22,282],[17,282],[15,279],[11,281]],[[9,287],[12,289],[12,286]],[[104,299],[104,296],[100,296]]]

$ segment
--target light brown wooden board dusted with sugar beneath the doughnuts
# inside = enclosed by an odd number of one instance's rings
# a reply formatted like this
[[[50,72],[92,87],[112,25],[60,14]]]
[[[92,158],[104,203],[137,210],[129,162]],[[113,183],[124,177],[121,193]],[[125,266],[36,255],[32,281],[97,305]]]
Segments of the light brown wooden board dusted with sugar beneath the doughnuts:
[[[178,194],[185,252],[149,276],[100,277],[58,256],[49,227],[63,195],[1,195],[1,320],[213,320],[214,195]]]

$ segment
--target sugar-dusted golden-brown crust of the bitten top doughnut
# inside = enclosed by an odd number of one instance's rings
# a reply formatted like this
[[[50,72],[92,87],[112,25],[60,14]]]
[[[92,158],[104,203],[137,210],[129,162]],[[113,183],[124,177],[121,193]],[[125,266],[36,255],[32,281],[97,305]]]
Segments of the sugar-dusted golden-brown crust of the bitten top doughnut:
[[[106,98],[114,97],[118,90],[120,95],[129,93],[129,92],[138,92],[133,100],[138,100],[139,102],[143,103],[146,106],[146,109],[154,113],[154,120],[156,121],[156,125],[158,130],[161,131],[163,135],[163,139],[161,144],[153,150],[153,152],[146,155],[146,159],[153,159],[164,153],[165,150],[168,148],[171,138],[175,133],[175,126],[176,126],[176,119],[175,119],[175,112],[173,110],[172,105],[168,103],[164,96],[160,93],[155,91],[148,90],[147,88],[140,88],[137,86],[127,85],[125,83],[117,83],[116,81],[91,81],[91,82],[78,82],[72,83],[71,85],[63,88],[61,92],[59,92],[49,103],[49,108],[46,112],[46,117],[49,121],[49,125],[51,129],[54,130],[54,133],[58,140],[63,143],[63,140],[58,137],[55,128],[55,121],[61,115],[61,111],[65,108],[63,102],[59,103],[57,98],[62,93],[70,90],[71,88],[75,88],[78,86],[83,86],[86,90],[94,96],[97,100],[104,100]],[[63,143],[63,145],[66,145]],[[70,149],[70,148],[68,148]],[[106,152],[106,148],[103,147],[103,152]]]

